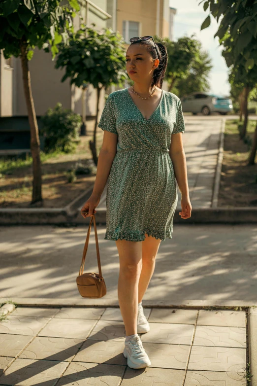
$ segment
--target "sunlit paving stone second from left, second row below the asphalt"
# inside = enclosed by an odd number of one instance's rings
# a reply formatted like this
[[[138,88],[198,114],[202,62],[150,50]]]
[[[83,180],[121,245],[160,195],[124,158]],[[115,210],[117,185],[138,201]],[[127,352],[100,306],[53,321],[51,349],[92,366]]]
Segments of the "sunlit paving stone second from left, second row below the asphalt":
[[[54,336],[56,338],[85,339],[88,337],[96,320],[89,319],[51,319],[38,334],[39,336]]]

